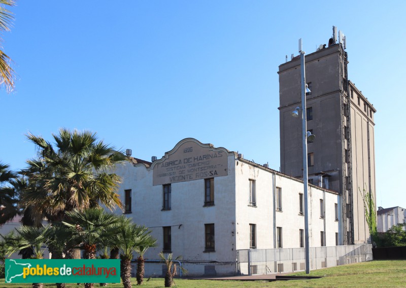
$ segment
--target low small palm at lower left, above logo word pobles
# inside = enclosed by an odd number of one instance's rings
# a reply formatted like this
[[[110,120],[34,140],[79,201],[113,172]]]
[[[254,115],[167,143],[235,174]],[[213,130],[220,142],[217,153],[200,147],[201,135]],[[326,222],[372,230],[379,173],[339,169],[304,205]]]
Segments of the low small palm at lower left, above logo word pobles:
[[[21,226],[17,229],[18,238],[14,239],[14,245],[9,248],[9,255],[14,252],[31,247],[33,250],[32,259],[44,259],[44,251],[48,243],[46,237],[48,233],[49,225],[45,227],[31,227],[31,226]],[[42,288],[43,283],[32,283],[32,288]]]

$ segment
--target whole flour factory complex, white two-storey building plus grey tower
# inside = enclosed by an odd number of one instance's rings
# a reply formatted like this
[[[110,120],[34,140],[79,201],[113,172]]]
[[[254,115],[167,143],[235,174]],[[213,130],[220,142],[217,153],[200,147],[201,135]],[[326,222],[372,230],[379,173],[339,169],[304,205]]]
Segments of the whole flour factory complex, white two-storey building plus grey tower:
[[[303,114],[306,130],[316,135],[307,145],[309,246],[357,244],[345,249],[358,249],[370,240],[363,199],[376,202],[376,109],[349,80],[344,34],[339,35],[337,41],[333,27],[328,47],[320,45],[306,56],[310,92]],[[292,54],[278,71],[282,172],[193,138],[181,140],[161,159],[130,158],[131,163],[117,167],[125,213],[151,228],[158,240],[146,258],[172,252],[183,256],[189,275],[223,275],[239,270],[238,250],[304,246],[302,123],[292,117],[292,111],[300,110],[300,65]],[[345,250],[328,264],[327,255],[335,257],[336,251],[321,249],[320,267],[369,259],[350,260],[352,252]],[[268,273],[266,253],[264,258],[260,265]],[[247,270],[253,270],[248,273],[256,274],[255,264],[247,262]],[[285,266],[303,270],[302,264]],[[278,265],[272,271],[282,271]],[[158,265],[150,267],[147,274],[161,274]]]

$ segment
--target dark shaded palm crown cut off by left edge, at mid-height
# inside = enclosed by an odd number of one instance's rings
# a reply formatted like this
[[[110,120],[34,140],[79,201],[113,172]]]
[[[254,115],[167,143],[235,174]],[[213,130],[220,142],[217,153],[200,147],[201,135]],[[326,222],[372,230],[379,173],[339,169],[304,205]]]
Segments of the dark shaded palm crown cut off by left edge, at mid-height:
[[[8,164],[0,162],[0,225],[13,219],[19,212],[18,197],[12,186],[16,177],[17,174],[10,170]]]

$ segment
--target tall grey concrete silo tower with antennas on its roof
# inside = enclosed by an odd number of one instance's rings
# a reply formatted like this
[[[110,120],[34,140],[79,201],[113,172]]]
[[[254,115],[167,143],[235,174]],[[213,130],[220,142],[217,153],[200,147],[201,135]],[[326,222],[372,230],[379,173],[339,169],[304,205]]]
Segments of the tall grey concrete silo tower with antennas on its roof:
[[[348,80],[342,34],[328,47],[306,55],[309,182],[339,192],[340,243],[369,239],[363,198],[376,203],[374,114],[376,109]],[[301,178],[301,123],[291,112],[300,105],[300,58],[279,66],[281,172]]]

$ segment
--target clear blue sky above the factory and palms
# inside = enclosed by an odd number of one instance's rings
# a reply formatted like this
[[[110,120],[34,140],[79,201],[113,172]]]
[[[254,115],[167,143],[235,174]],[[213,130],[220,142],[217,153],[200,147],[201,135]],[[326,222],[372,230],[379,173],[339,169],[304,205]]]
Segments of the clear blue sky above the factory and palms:
[[[4,51],[0,159],[35,156],[31,132],[88,129],[132,156],[194,137],[279,169],[278,66],[347,37],[349,78],[377,109],[377,205],[406,208],[404,1],[18,1]]]

